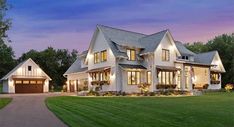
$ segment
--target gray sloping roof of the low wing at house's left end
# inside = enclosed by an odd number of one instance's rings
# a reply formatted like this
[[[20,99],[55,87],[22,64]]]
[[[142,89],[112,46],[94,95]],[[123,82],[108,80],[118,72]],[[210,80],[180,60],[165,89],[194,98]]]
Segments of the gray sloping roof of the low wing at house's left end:
[[[81,59],[78,57],[77,60],[68,68],[68,70],[63,75],[83,72],[87,70],[88,70],[88,67],[81,68]]]

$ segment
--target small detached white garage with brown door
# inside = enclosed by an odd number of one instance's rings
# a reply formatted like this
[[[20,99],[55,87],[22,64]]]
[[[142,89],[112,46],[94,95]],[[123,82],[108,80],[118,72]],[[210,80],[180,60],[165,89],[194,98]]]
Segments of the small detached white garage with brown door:
[[[31,58],[17,65],[1,79],[4,93],[49,92],[50,80]]]

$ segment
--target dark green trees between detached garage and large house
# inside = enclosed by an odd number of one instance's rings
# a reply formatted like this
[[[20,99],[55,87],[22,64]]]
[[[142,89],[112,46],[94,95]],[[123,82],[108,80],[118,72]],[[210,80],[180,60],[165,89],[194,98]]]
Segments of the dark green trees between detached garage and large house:
[[[63,74],[76,60],[78,52],[73,50],[69,52],[67,49],[54,49],[48,47],[43,51],[30,50],[24,53],[19,62],[32,58],[51,78],[51,84],[61,86],[66,79]]]

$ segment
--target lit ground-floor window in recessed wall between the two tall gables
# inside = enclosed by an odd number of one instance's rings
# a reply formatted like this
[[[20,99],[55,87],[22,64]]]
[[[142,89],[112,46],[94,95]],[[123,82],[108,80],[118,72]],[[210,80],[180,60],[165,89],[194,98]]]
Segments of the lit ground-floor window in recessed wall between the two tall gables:
[[[140,84],[140,72],[139,71],[128,71],[128,85]]]

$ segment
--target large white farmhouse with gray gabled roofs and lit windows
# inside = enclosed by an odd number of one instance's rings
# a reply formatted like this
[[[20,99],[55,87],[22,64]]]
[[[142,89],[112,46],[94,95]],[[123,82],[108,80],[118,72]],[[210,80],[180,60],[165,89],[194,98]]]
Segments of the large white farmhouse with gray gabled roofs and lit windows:
[[[201,54],[175,41],[169,30],[151,35],[97,25],[89,49],[65,72],[67,90],[140,92],[159,89],[220,89],[222,61],[217,51]]]

